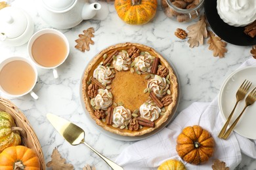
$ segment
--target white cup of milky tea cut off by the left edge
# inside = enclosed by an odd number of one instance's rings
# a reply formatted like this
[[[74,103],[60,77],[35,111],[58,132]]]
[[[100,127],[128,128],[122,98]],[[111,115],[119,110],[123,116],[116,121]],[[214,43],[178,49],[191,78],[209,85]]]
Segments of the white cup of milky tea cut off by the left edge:
[[[11,57],[0,63],[0,90],[6,95],[20,97],[30,93],[38,99],[32,91],[36,82],[37,69],[28,59]]]

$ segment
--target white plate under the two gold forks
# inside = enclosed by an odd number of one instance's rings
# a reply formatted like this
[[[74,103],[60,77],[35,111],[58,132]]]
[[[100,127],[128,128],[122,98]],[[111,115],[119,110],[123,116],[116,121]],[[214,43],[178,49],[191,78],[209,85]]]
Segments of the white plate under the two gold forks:
[[[223,115],[224,120],[226,121],[230,112],[236,104],[236,92],[241,86],[244,80],[249,80],[252,82],[249,92],[253,90],[256,86],[256,67],[245,67],[244,69],[239,69],[234,71],[223,83],[219,93],[219,108]],[[249,94],[247,92],[247,94]],[[245,98],[240,101],[234,111],[234,114],[230,120],[229,126],[236,120],[240,112],[244,109]],[[245,109],[244,114],[234,127],[236,133],[247,137],[249,139],[256,139],[256,102]]]

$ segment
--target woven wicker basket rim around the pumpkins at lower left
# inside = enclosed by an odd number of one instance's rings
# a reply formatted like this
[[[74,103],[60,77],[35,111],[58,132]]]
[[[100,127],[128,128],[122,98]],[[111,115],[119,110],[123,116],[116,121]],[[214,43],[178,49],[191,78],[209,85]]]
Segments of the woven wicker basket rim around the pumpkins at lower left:
[[[22,134],[22,144],[28,148],[32,148],[37,153],[37,156],[41,163],[41,169],[45,170],[45,160],[43,158],[43,152],[41,145],[35,135],[35,131],[30,126],[30,122],[24,114],[7,99],[0,97],[0,111],[8,112],[14,118],[16,126],[21,127],[25,131],[25,135]]]

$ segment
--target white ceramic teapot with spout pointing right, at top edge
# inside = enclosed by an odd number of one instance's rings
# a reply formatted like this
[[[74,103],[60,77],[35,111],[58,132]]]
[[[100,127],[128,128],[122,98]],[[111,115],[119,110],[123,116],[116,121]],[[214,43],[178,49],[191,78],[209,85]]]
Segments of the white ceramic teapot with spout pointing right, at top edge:
[[[40,0],[39,14],[47,24],[58,29],[68,29],[83,20],[89,20],[100,10],[99,3],[89,0]]]

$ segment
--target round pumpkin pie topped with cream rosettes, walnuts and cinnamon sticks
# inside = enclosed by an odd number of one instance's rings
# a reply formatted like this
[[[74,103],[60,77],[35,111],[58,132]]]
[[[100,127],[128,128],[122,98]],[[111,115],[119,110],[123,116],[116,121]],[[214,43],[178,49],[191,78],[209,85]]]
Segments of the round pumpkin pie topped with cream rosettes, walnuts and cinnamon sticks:
[[[82,80],[85,107],[98,126],[123,136],[154,131],[177,105],[177,76],[153,48],[122,43],[102,50]]]

